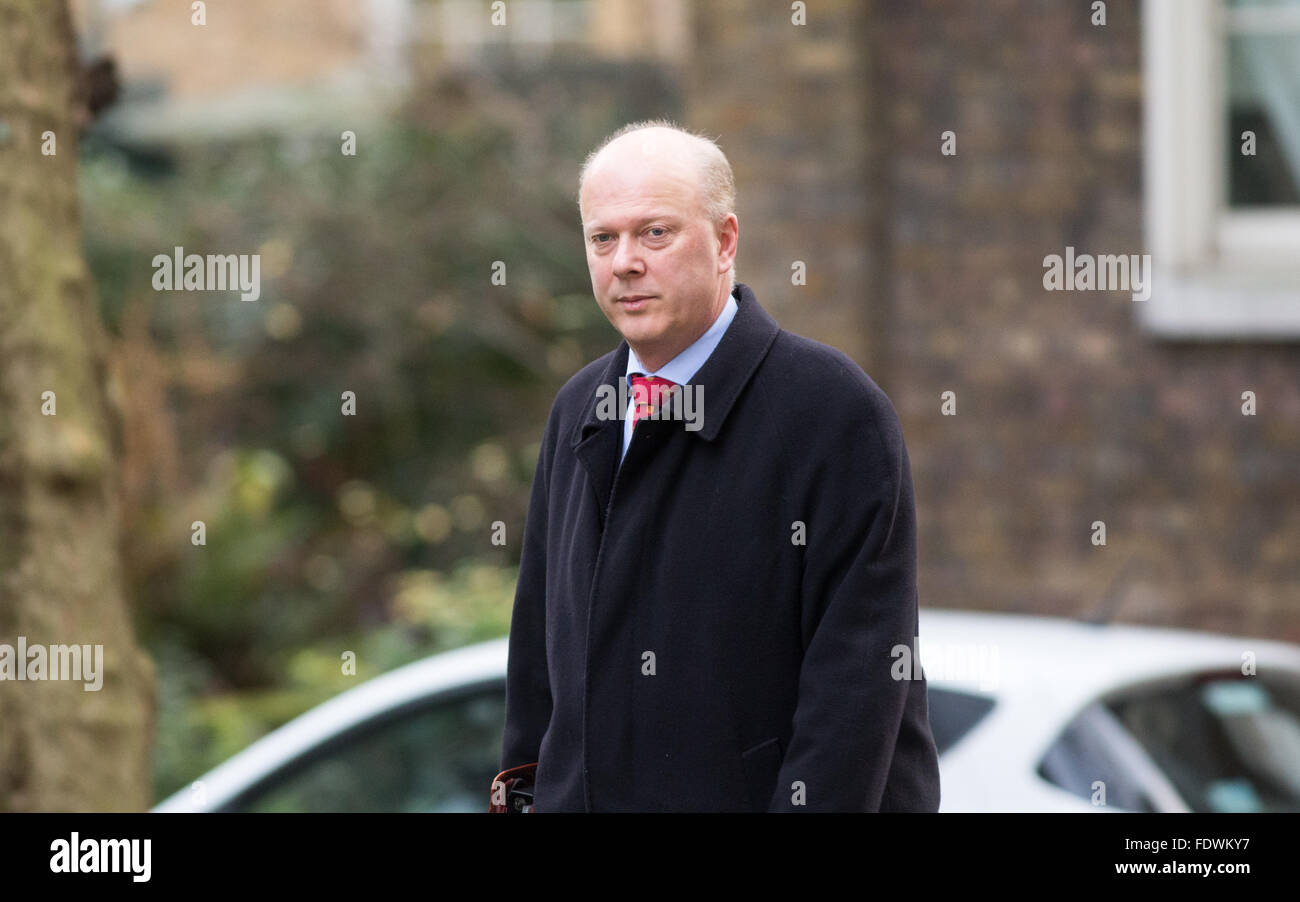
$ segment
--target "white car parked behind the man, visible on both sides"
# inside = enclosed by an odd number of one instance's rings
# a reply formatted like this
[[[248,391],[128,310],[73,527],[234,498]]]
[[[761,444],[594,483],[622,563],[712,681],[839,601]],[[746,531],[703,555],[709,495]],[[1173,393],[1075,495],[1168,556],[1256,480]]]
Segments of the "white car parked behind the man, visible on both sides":
[[[1300,647],[922,610],[940,811],[1300,811]],[[473,811],[504,721],[506,639],[320,704],[155,811]]]

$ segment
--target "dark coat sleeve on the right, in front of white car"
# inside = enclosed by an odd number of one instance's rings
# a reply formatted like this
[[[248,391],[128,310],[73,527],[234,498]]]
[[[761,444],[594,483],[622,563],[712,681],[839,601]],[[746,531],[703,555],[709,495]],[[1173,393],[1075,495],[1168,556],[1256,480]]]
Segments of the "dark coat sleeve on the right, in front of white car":
[[[920,788],[913,810],[937,807],[937,755],[926,706],[915,701],[924,686],[893,677],[902,671],[893,667],[897,647],[914,651],[916,632],[907,451],[875,383],[850,407],[855,416],[829,429],[828,446],[819,442],[824,451],[807,495],[803,659],[774,812],[906,807],[896,798],[900,785]],[[896,750],[914,760],[896,760]]]

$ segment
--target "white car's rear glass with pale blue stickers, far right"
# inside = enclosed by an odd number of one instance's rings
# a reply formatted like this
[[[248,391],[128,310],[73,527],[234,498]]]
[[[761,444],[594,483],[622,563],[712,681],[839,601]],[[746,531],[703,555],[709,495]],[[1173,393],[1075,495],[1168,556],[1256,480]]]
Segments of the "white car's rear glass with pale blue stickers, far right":
[[[1300,688],[1202,675],[1110,703],[1193,811],[1300,811]]]

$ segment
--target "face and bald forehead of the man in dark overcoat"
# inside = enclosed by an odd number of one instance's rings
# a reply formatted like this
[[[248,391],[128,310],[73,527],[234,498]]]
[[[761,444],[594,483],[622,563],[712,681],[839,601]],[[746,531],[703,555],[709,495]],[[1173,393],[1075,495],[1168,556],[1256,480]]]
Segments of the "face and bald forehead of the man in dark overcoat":
[[[719,237],[705,217],[690,156],[641,135],[604,148],[582,185],[581,208],[595,302],[654,372],[699,338],[727,303],[737,225],[728,217]]]

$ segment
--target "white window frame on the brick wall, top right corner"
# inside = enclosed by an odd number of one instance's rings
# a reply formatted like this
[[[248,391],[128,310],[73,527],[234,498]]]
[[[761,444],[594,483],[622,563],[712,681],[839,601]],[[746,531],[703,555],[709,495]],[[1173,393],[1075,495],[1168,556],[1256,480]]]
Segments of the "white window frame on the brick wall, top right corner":
[[[1251,27],[1253,10],[1242,12],[1235,22]],[[1153,276],[1149,300],[1135,302],[1138,318],[1170,338],[1300,338],[1300,207],[1226,209],[1227,16],[1223,0],[1144,0]]]

